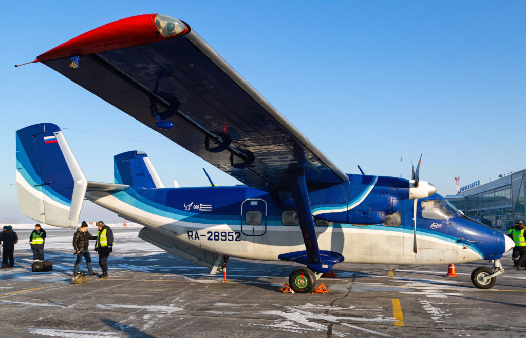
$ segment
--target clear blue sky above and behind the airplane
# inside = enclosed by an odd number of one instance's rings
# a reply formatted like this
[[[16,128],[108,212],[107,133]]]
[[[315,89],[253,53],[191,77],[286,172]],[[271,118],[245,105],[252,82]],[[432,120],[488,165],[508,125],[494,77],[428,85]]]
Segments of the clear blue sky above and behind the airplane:
[[[526,3],[4,2],[0,23],[0,223],[19,215],[15,131],[53,122],[86,177],[113,182],[113,156],[146,152],[166,186],[237,181],[42,64],[14,68],[87,30],[161,13],[187,22],[347,173],[421,178],[442,195],[522,170]],[[98,133],[98,134],[93,134]],[[103,134],[103,135],[99,135]],[[146,142],[145,142],[146,141]],[[85,203],[81,218],[117,221]]]

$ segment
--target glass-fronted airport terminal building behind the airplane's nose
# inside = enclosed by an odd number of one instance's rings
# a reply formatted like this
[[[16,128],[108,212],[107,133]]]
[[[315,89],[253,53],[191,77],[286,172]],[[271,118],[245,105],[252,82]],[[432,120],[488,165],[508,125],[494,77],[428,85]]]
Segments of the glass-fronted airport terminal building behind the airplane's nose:
[[[506,231],[517,219],[525,218],[524,189],[526,170],[521,170],[482,185],[464,186],[458,195],[446,199],[466,216]]]

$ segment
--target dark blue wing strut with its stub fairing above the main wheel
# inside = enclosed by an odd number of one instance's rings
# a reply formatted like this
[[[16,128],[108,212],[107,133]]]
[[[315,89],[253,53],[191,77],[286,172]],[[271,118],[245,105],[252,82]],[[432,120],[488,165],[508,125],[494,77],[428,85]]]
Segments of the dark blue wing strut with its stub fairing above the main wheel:
[[[278,258],[305,264],[316,272],[329,272],[333,265],[343,260],[343,256],[333,251],[320,251],[318,247],[305,173],[299,171],[290,174],[289,185],[307,251],[289,252]]]

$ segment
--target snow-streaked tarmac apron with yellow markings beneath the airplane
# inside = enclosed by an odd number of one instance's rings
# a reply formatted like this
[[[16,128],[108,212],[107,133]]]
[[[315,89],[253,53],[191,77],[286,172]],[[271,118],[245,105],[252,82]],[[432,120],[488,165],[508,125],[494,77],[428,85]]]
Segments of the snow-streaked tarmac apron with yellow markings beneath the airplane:
[[[509,318],[526,308],[526,273],[510,269],[509,255],[491,290],[471,284],[471,271],[489,266],[480,261],[458,265],[458,279],[443,277],[447,266],[340,264],[339,278],[320,280],[328,294],[284,294],[279,287],[293,269],[286,262],[230,259],[223,283],[221,275],[140,240],[140,227],[113,225],[110,278],[74,286],[74,230],[44,228],[54,270],[33,273],[33,227],[15,227],[15,269],[0,270],[0,336],[523,335]]]

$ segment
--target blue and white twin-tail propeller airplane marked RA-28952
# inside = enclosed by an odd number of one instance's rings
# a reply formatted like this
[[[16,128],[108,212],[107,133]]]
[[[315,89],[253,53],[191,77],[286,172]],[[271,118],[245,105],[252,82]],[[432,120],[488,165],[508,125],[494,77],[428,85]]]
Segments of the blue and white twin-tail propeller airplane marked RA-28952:
[[[87,181],[62,131],[16,132],[21,214],[75,228],[84,198],[144,226],[139,237],[216,274],[229,257],[299,263],[312,292],[339,262],[433,265],[487,259],[488,289],[514,243],[420,179],[346,174],[182,20],[129,17],[79,35],[41,62],[242,185],[167,188],[146,153],[114,156],[114,183]],[[116,241],[118,246],[118,241]]]

